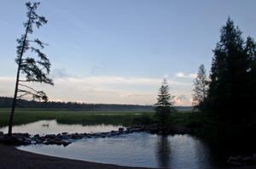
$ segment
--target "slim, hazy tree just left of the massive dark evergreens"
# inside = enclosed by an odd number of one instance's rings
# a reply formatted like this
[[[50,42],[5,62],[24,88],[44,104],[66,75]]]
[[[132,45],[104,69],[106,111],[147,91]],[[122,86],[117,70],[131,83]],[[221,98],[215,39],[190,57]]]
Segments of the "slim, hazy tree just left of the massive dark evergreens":
[[[194,81],[193,105],[199,110],[203,110],[208,93],[207,73],[204,65],[200,65]]]

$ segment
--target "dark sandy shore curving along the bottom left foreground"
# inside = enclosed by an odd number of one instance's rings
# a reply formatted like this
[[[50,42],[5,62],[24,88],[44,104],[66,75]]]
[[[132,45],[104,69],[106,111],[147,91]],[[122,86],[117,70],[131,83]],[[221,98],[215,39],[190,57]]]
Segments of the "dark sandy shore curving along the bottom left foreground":
[[[38,155],[0,144],[0,169],[143,169],[87,161],[76,161],[48,155]],[[228,169],[255,169],[256,166],[228,167]],[[146,168],[144,168],[146,169]],[[216,169],[224,169],[218,167]]]

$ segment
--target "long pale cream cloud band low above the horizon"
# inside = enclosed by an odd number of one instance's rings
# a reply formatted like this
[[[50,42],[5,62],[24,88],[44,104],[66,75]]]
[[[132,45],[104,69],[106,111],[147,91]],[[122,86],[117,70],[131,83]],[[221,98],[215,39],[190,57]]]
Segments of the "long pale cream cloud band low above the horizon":
[[[189,98],[191,82],[180,82],[172,78],[167,80],[173,95],[186,94]],[[40,83],[29,85],[44,90],[50,100],[106,104],[155,104],[162,78],[59,75],[54,78],[54,82],[54,87]],[[12,96],[15,78],[0,76],[0,87],[0,96]],[[188,99],[180,97],[177,97],[175,101],[177,105],[189,104]]]

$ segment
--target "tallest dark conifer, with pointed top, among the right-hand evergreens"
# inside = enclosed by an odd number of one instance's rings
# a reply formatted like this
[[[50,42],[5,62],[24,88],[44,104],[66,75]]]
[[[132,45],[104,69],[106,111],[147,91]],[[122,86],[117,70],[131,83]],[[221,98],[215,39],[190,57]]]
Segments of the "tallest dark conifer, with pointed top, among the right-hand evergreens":
[[[207,109],[220,121],[238,123],[247,117],[249,63],[247,44],[229,18],[213,50]]]

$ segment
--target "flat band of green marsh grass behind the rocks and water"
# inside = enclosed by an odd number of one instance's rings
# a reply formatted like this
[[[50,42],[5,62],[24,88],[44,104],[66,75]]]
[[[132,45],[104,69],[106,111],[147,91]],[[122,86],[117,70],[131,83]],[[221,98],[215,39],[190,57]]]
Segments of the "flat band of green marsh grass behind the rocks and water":
[[[0,109],[0,127],[7,126],[9,122],[9,109]],[[154,112],[137,111],[88,111],[88,110],[41,110],[17,109],[14,124],[26,124],[39,120],[53,120],[62,124],[153,124],[156,122]],[[201,116],[196,113],[178,112],[172,114],[170,123],[176,126],[199,127]]]

